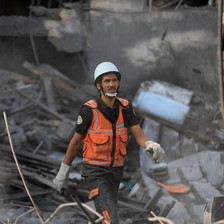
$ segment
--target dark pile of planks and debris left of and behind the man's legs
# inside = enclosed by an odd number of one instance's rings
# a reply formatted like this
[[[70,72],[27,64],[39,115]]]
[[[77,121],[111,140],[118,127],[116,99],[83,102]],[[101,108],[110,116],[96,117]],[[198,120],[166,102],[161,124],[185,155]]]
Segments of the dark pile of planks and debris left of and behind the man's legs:
[[[80,175],[81,150],[72,164],[68,190],[63,194],[57,193],[53,189],[52,179],[74,133],[80,106],[98,94],[95,86],[81,86],[50,65],[42,64],[37,68],[24,62],[22,66],[26,69],[24,74],[0,70],[0,110],[6,114],[13,148],[30,194],[45,221],[58,206],[68,202],[76,203],[77,198],[94,209]],[[1,221],[40,223],[19,175],[3,115],[0,131]],[[141,201],[136,201],[133,192],[130,194],[141,179],[136,164],[139,164],[136,154],[134,160],[127,159],[121,185],[119,211],[121,220],[126,223],[147,222],[147,218],[152,216],[150,210],[153,207],[156,214],[160,211],[147,192],[142,192],[146,194]],[[149,201],[151,205],[145,208]],[[91,212],[89,215],[94,217]],[[58,211],[50,223],[87,223],[87,220],[80,206],[70,206]]]

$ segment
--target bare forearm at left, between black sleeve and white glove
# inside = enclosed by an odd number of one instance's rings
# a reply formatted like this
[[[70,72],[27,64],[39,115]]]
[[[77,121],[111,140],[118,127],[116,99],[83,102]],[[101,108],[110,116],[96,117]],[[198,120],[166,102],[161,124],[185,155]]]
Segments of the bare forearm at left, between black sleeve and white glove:
[[[75,132],[65,154],[65,158],[64,158],[65,164],[71,166],[72,161],[75,159],[75,157],[78,154],[83,138],[84,138],[84,135],[80,135],[77,132]]]

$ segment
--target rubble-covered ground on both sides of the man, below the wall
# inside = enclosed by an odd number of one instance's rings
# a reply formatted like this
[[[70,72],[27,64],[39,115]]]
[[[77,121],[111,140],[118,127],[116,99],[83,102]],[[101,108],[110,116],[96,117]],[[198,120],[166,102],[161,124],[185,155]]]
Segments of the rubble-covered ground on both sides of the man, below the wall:
[[[5,112],[16,159],[43,220],[62,206],[48,223],[88,223],[79,205],[65,207],[78,198],[94,209],[80,176],[81,150],[73,162],[67,191],[58,194],[52,179],[74,132],[79,108],[96,97],[95,87],[80,86],[49,65],[39,70],[29,62],[22,66],[24,74],[0,70],[0,222],[41,223],[17,170]],[[203,223],[206,202],[223,194],[224,129],[219,102],[209,94],[194,92],[189,106],[184,125],[178,127],[138,114],[143,130],[162,145],[166,158],[164,169],[156,172],[155,164],[130,136],[120,186],[122,223],[150,223],[147,219],[153,214],[176,224]]]

